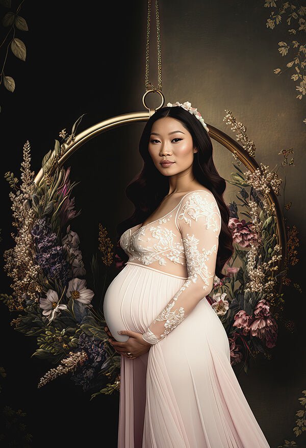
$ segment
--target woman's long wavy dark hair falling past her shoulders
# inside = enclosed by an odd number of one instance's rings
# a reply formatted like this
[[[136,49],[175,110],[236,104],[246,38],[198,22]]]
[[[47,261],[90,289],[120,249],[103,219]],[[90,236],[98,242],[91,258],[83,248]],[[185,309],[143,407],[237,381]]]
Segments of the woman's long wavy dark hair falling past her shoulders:
[[[213,162],[212,141],[200,121],[181,106],[163,107],[158,109],[146,122],[139,142],[139,153],[143,158],[142,171],[126,187],[125,194],[135,206],[135,211],[129,218],[120,222],[117,230],[116,266],[121,267],[129,257],[120,247],[119,239],[122,233],[146,220],[160,205],[169,193],[167,176],[156,168],[148,152],[148,144],[153,123],[162,117],[172,117],[182,122],[190,132],[193,146],[197,147],[192,164],[193,176],[203,187],[208,188],[216,198],[219,206],[222,224],[219,234],[219,246],[216,261],[216,276],[225,277],[221,270],[234,252],[233,237],[228,228],[230,210],[223,200],[226,188],[225,180],[219,175]]]

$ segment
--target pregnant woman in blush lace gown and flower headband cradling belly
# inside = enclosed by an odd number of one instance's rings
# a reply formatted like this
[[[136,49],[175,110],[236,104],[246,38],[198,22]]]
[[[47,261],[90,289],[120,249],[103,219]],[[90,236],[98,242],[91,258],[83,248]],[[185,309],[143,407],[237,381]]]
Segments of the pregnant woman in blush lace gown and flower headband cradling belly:
[[[121,355],[118,448],[269,448],[206,298],[233,254],[208,127],[189,102],[168,103],[139,151],[135,211],[118,226],[126,263],[104,300]]]

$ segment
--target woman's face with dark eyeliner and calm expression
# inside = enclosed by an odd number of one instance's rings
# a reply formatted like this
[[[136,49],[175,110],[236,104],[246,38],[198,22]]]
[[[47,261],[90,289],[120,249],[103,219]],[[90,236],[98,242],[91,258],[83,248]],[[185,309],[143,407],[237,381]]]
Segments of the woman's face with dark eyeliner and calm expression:
[[[165,176],[173,176],[192,166],[197,148],[180,120],[163,117],[152,125],[148,151],[157,169]],[[165,160],[174,163],[161,164]]]

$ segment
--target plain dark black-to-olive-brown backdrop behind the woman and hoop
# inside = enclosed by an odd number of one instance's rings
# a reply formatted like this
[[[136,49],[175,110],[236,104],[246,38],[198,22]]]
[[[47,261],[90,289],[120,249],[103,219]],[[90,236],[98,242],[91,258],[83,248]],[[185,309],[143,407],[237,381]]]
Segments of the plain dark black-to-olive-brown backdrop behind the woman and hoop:
[[[212,123],[235,138],[222,121],[224,109],[232,109],[247,123],[249,137],[257,143],[258,163],[273,167],[280,161],[277,152],[294,146],[297,166],[287,179],[286,200],[293,201],[290,224],[298,220],[300,230],[300,263],[292,277],[301,283],[304,125],[294,83],[286,74],[279,78],[273,74],[273,68],[280,63],[284,66],[275,49],[277,42],[284,40],[281,31],[266,29],[270,11],[264,2],[178,1],[174,7],[173,2],[160,0],[159,4],[165,103],[191,101],[204,118],[207,116],[208,126]],[[18,5],[12,2],[10,10],[16,11]],[[103,119],[143,110],[146,6],[144,0],[56,2],[43,5],[43,10],[41,4],[22,4],[19,15],[27,20],[29,32],[18,31],[16,37],[25,43],[27,59],[17,59],[9,49],[4,72],[14,78],[16,88],[11,93],[0,86],[2,254],[12,246],[13,231],[10,187],[4,174],[13,171],[20,178],[24,143],[30,141],[32,169],[37,173],[59,132],[66,128],[69,133],[83,113],[78,132]],[[0,7],[1,18],[7,11]],[[151,27],[149,80],[157,86],[154,2]],[[1,32],[2,42],[7,30],[2,27]],[[1,64],[4,57],[2,48]],[[142,129],[143,123],[137,123],[101,134],[65,164],[71,166],[71,180],[80,181],[72,196],[75,208],[82,212],[71,228],[80,236],[88,271],[91,254],[97,252],[98,223],[114,240],[115,226],[132,212],[124,189],[142,166],[138,154]],[[232,158],[216,142],[214,149],[216,166],[221,176],[229,179]],[[229,186],[228,193],[231,191]],[[1,292],[9,294],[10,279],[3,269],[0,273]],[[304,312],[301,294],[293,291],[287,295],[285,316],[296,322],[295,332],[291,334],[279,324],[272,359],[252,361],[248,375],[242,372],[239,376],[254,415],[275,448],[284,438],[295,440],[295,412],[305,389]],[[0,316],[0,365],[7,372],[0,401],[2,407],[27,412],[25,421],[33,434],[33,446],[88,443],[116,447],[119,395],[99,395],[89,401],[90,393],[84,393],[68,377],[59,377],[38,390],[39,379],[53,366],[31,358],[36,340],[25,338],[9,325],[17,315],[10,315],[1,305]],[[106,437],[109,443],[105,443]],[[296,439],[299,446],[301,437]]]

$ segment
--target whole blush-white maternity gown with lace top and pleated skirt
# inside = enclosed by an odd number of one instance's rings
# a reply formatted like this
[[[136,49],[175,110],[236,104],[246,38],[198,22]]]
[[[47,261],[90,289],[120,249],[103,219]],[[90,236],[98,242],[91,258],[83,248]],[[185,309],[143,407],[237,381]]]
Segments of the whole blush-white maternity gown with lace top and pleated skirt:
[[[269,448],[230,363],[213,288],[221,216],[194,190],[163,217],[126,230],[129,261],[107,289],[104,314],[143,334],[149,351],[121,356],[118,448]]]

